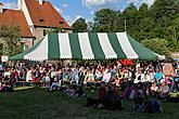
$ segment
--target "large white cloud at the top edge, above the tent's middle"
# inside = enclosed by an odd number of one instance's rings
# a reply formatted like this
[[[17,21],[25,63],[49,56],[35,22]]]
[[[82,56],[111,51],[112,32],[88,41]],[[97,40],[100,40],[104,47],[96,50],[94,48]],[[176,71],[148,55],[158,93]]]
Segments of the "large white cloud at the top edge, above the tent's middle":
[[[90,10],[99,10],[104,8],[117,9],[122,0],[82,0],[82,4]]]

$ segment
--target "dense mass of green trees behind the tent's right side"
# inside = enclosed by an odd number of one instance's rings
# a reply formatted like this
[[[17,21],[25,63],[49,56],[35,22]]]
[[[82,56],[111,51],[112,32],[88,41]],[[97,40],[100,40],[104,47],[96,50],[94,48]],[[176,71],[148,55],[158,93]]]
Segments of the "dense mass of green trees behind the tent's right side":
[[[130,3],[123,12],[111,9],[97,11],[91,29],[93,32],[127,31],[151,50],[169,55],[179,51],[178,13],[179,0],[155,0],[151,6],[142,3],[139,8]],[[82,28],[77,26],[79,30]]]

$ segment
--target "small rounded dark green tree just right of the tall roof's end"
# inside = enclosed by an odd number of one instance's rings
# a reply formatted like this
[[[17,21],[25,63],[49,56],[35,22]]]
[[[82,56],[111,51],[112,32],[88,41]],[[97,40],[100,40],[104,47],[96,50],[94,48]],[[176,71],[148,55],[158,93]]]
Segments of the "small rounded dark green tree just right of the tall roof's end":
[[[88,30],[88,24],[82,17],[78,18],[72,27],[74,28],[74,32],[86,32]]]

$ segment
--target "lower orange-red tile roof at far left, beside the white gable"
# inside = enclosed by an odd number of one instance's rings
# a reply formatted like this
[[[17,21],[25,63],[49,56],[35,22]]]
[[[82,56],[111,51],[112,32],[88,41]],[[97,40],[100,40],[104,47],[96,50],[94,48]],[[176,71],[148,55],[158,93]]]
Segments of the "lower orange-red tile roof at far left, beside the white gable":
[[[0,14],[0,25],[20,26],[23,38],[33,38],[22,11],[4,9],[3,13]]]

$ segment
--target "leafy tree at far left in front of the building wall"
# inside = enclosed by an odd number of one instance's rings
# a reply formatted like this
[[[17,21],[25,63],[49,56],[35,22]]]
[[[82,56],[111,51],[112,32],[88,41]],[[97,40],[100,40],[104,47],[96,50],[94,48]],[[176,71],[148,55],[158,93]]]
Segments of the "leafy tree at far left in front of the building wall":
[[[22,34],[18,26],[0,26],[0,38],[3,41],[3,55],[15,55],[22,52],[21,37]]]

